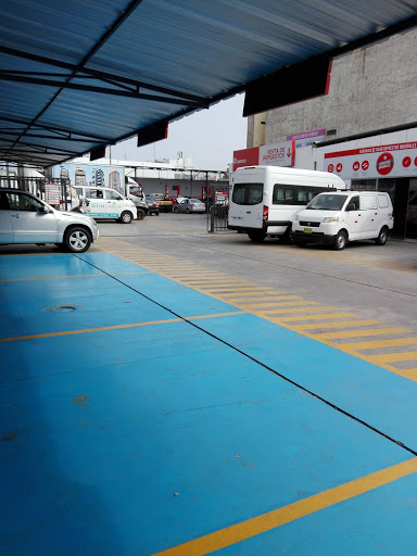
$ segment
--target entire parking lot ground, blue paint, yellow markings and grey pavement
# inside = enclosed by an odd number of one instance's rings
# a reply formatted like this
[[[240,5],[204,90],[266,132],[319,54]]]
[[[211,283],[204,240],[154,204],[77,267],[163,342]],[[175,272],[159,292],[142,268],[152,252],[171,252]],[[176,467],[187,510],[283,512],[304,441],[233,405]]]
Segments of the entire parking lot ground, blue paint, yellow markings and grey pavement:
[[[99,227],[0,248],[4,554],[414,554],[416,242]]]

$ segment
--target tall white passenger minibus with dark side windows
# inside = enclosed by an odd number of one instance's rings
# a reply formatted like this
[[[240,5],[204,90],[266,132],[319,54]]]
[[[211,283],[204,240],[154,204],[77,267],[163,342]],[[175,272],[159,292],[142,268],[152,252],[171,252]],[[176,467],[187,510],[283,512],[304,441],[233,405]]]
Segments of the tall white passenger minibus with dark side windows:
[[[291,223],[320,191],[345,189],[334,174],[279,166],[245,166],[235,173],[228,228],[252,241],[267,236],[290,240]]]

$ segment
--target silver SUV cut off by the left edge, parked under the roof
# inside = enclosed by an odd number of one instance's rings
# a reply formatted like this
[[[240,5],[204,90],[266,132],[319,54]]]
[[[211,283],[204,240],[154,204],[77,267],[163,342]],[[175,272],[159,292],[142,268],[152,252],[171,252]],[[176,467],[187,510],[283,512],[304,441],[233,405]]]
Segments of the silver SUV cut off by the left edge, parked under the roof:
[[[84,253],[99,237],[93,218],[55,211],[37,197],[18,189],[0,190],[0,243],[56,243]]]

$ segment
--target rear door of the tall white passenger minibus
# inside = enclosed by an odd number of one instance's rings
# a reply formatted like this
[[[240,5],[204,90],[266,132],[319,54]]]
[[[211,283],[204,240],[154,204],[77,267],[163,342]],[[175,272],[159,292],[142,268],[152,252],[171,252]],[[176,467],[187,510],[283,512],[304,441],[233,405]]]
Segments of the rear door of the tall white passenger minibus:
[[[263,226],[264,184],[235,184],[229,210],[229,225],[241,228]]]

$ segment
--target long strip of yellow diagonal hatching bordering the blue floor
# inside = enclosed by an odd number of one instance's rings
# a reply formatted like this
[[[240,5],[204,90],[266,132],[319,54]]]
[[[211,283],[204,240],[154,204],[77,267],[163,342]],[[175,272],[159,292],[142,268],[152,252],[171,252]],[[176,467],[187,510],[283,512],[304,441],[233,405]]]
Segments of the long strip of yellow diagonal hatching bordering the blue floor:
[[[125,249],[126,243],[121,240],[112,239],[110,241],[101,242],[100,247],[101,245],[117,256],[127,258],[150,271],[155,271],[161,276],[164,276],[165,278],[177,281],[189,288],[193,288],[195,291],[204,293],[205,295],[211,295],[217,300],[225,301],[236,307],[244,309],[248,313],[256,315],[260,318],[264,318],[313,340],[330,345],[339,351],[378,365],[391,372],[395,372],[396,375],[417,381],[416,372],[413,369],[401,369],[395,367],[395,362],[401,363],[401,361],[409,362],[414,359],[402,359],[401,354],[394,355],[390,353],[390,349],[392,352],[392,348],[397,345],[413,345],[412,341],[408,343],[408,340],[406,339],[401,339],[404,343],[395,343],[392,338],[394,334],[414,336],[415,332],[412,330],[402,327],[387,327],[380,320],[361,320],[361,317],[356,314],[337,313],[340,311],[337,307],[320,305],[316,301],[304,300],[300,295],[292,295],[291,292],[285,292],[281,290],[274,291],[268,287],[260,286],[254,282],[242,281],[238,277],[204,268],[192,263],[184,263],[182,261],[169,255],[157,255],[143,248],[136,248],[132,250],[130,247],[126,247]],[[269,245],[266,248],[271,249],[273,247]],[[315,252],[314,255],[317,255],[317,252]],[[333,257],[334,253],[331,253],[331,255],[328,253],[320,253],[319,256],[323,258],[328,258],[330,256]],[[344,257],[344,260],[348,261],[346,257]],[[357,258],[355,255],[350,255],[350,260],[356,262]],[[213,274],[208,275],[207,273]],[[281,294],[280,299],[286,301],[278,301],[279,294]],[[325,313],[333,311],[334,313],[332,314]],[[291,315],[291,313],[298,313],[299,315]],[[286,314],[289,316],[286,316]],[[352,317],[357,317],[357,319],[350,320]],[[339,318],[340,320],[332,321],[331,319],[334,318]],[[343,318],[346,320],[343,320]],[[312,320],[318,320],[318,323],[314,324]],[[333,331],[338,328],[341,330]],[[348,328],[351,328],[352,330],[348,330]],[[366,342],[355,341],[359,338],[371,338],[376,336],[383,337],[377,345],[369,344],[366,348],[361,348],[361,345],[364,345]],[[386,339],[386,337],[391,338]],[[349,341],[331,341],[343,339],[348,339]],[[356,348],[350,344],[356,344]],[[384,350],[387,353],[381,353],[376,356],[374,354],[366,355],[358,351],[361,349],[366,351],[367,349],[377,346]],[[416,352],[407,353],[409,357],[413,357],[410,354]],[[407,355],[404,356],[407,357]],[[417,363],[417,354],[415,361]],[[393,363],[393,365],[389,365],[389,363]]]

